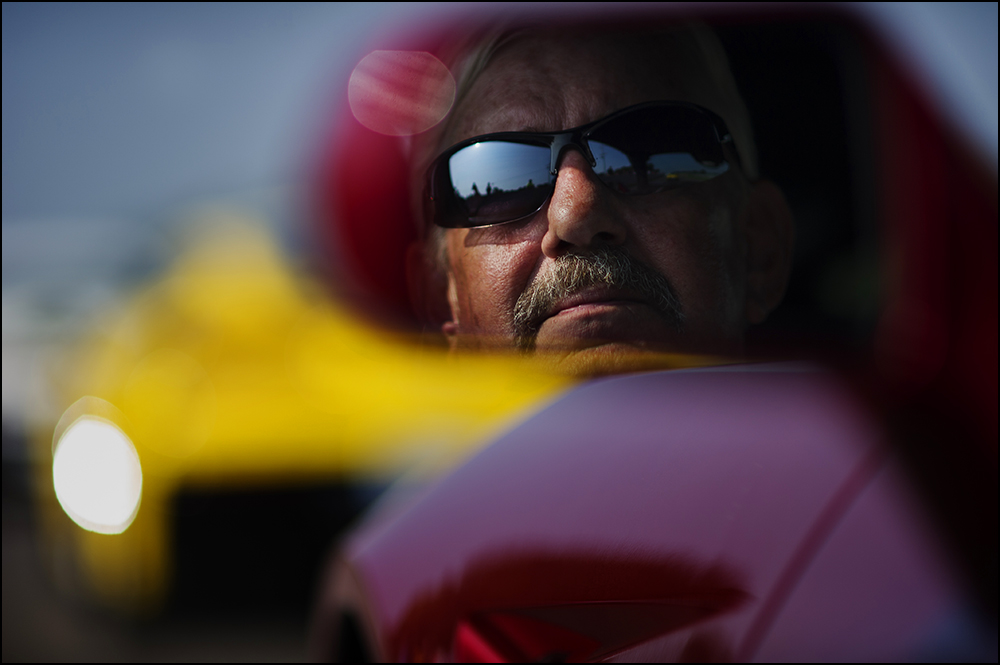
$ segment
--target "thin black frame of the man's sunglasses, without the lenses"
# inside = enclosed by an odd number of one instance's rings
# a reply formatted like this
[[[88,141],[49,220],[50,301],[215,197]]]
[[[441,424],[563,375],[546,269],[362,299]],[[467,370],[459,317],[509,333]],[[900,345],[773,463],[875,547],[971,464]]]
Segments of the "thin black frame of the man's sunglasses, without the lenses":
[[[562,159],[563,153],[569,148],[576,148],[581,154],[587,159],[590,165],[596,166],[597,160],[594,159],[594,155],[590,150],[590,136],[600,129],[605,124],[617,120],[623,115],[635,111],[641,111],[647,108],[684,108],[691,111],[695,111],[701,115],[706,116],[711,122],[712,127],[715,130],[715,138],[718,140],[720,147],[723,149],[723,155],[725,155],[725,147],[728,145],[732,150],[734,161],[736,165],[740,165],[739,152],[736,150],[736,143],[733,140],[732,133],[726,127],[725,121],[717,113],[710,111],[709,109],[699,106],[697,104],[692,104],[690,102],[680,102],[680,101],[652,101],[652,102],[642,102],[641,104],[634,104],[632,106],[627,106],[623,109],[619,109],[614,113],[599,118],[592,122],[588,122],[584,125],[578,127],[573,127],[571,129],[566,129],[561,132],[495,132],[492,134],[482,134],[480,136],[473,136],[472,138],[465,139],[455,145],[451,146],[443,153],[438,155],[430,166],[427,168],[425,174],[425,186],[424,186],[424,208],[426,219],[430,220],[437,226],[442,228],[484,228],[487,226],[498,226],[500,224],[510,224],[512,222],[517,222],[528,217],[531,217],[548,201],[549,197],[546,197],[542,203],[532,210],[531,212],[516,217],[514,219],[504,220],[502,222],[492,222],[489,224],[469,224],[469,225],[446,225],[439,221],[439,218],[444,218],[447,216],[445,209],[449,207],[447,205],[447,197],[442,196],[443,192],[441,183],[439,180],[443,180],[445,174],[448,175],[448,180],[450,182],[450,167],[449,161],[455,153],[468,148],[471,145],[477,143],[485,142],[502,142],[502,143],[519,143],[522,145],[535,145],[539,147],[549,148],[550,150],[550,160],[549,160],[549,176],[552,178],[550,184],[555,182],[555,179],[559,176],[559,162]],[[726,159],[728,162],[729,160]],[[602,181],[603,183],[603,181]],[[605,186],[607,186],[606,183]],[[447,190],[451,190],[451,187],[447,187]],[[452,191],[448,191],[450,196]]]

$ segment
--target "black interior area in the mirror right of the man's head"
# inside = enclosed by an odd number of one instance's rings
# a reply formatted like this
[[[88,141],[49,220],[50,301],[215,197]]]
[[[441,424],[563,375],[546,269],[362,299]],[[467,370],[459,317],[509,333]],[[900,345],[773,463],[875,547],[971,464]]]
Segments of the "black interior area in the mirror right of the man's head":
[[[870,343],[878,306],[870,100],[854,30],[839,22],[716,27],[750,112],[761,177],[795,218],[782,304],[748,331],[751,354]]]

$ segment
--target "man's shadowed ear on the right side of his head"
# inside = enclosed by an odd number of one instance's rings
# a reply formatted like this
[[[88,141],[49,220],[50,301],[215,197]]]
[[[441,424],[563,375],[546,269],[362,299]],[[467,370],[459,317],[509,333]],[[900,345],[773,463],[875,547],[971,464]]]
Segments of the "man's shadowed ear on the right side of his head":
[[[778,186],[758,180],[745,208],[747,323],[761,323],[785,295],[792,270],[795,223]]]

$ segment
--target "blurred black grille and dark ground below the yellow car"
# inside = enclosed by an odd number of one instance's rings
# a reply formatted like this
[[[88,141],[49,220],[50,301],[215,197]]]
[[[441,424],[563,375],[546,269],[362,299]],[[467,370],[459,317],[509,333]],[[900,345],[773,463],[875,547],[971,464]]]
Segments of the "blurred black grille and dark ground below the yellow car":
[[[19,445],[4,429],[4,446]],[[23,443],[23,442],[22,442]],[[57,581],[29,464],[3,463],[3,661],[298,662],[323,556],[378,488],[182,492],[166,612],[127,617]],[[58,558],[58,557],[56,557]]]

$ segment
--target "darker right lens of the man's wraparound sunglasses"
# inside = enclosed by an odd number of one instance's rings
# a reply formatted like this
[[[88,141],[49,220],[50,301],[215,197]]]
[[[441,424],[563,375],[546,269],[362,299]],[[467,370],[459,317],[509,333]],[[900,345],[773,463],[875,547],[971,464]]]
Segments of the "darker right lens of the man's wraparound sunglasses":
[[[618,116],[590,134],[590,149],[598,176],[623,194],[711,180],[729,170],[711,118],[685,107]]]

